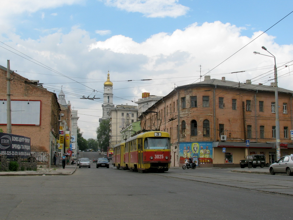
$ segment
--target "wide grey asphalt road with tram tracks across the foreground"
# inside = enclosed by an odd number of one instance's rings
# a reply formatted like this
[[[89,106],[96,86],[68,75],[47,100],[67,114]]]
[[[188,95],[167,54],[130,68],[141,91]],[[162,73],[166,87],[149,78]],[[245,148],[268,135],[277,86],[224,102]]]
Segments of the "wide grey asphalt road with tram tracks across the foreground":
[[[92,163],[69,176],[1,177],[0,219],[292,219],[292,196],[236,186],[292,186],[290,178],[198,168],[138,173]]]

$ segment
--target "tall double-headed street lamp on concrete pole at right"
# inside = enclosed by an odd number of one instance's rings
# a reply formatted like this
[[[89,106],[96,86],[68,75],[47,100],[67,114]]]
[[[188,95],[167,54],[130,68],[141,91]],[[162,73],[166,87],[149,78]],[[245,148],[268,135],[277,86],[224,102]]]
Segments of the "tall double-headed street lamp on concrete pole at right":
[[[265,48],[264,46],[261,47],[263,50],[267,50],[267,48]],[[269,51],[268,53],[270,53],[270,55],[265,55],[265,54],[261,54],[259,52],[253,52],[254,54],[260,54],[260,55],[264,55],[264,56],[268,56],[268,57],[274,57],[275,60],[275,66],[274,66],[274,76],[275,76],[275,83],[274,83],[274,87],[275,87],[275,112],[276,112],[276,148],[277,148],[277,160],[280,159],[281,154],[280,154],[280,122],[279,122],[279,104],[278,104],[278,78],[277,78],[277,65],[276,65],[276,57],[274,55],[272,55]]]

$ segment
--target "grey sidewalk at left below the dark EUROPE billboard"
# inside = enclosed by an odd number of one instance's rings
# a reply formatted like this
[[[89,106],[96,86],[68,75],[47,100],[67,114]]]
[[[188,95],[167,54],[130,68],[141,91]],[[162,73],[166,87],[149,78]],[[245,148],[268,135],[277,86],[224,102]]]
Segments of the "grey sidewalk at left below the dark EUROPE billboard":
[[[76,165],[66,165],[65,169],[62,165],[58,167],[41,168],[38,167],[37,171],[26,170],[26,171],[4,171],[0,172],[0,176],[45,176],[45,175],[71,175],[76,170]]]

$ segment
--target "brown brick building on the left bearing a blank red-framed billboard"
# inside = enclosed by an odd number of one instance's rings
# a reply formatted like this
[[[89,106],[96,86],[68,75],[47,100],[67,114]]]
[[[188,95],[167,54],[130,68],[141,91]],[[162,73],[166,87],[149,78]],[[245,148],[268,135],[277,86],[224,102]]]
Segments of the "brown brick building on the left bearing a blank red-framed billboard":
[[[0,65],[0,128],[7,130],[7,69]],[[39,163],[50,165],[59,139],[60,106],[53,92],[11,71],[11,130],[30,137],[31,154]],[[4,104],[3,104],[4,103]]]

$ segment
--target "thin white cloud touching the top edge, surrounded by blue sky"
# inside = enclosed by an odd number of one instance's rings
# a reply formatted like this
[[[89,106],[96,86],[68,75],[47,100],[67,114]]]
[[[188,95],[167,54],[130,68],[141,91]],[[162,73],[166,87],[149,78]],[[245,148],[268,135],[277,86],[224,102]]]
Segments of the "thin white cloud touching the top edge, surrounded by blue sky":
[[[185,15],[189,8],[178,4],[178,0],[104,0],[108,6],[128,12],[139,12],[149,18],[164,18]]]

